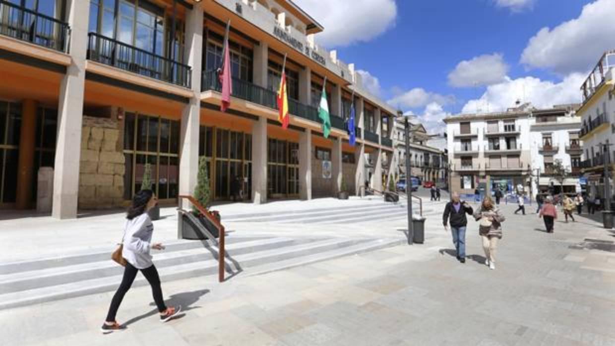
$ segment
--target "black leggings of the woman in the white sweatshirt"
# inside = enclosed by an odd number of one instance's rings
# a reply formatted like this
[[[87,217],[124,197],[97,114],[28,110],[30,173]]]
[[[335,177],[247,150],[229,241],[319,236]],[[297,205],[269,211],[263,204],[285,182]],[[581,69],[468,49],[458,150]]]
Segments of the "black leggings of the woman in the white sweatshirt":
[[[122,283],[117,288],[116,294],[114,294],[113,299],[111,299],[111,306],[109,306],[109,313],[107,313],[107,322],[115,321],[117,309],[119,309],[119,305],[122,304],[122,299],[124,299],[124,295],[132,286],[132,282],[135,281],[135,277],[137,277],[137,272],[141,270],[143,276],[148,280],[149,286],[152,287],[152,294],[154,296],[154,301],[156,302],[156,306],[158,307],[159,312],[164,312],[167,310],[167,306],[164,305],[164,299],[162,299],[162,288],[160,287],[160,277],[158,277],[158,271],[156,267],[152,264],[151,267],[146,269],[137,269],[133,267],[132,264],[126,263],[126,267],[124,269],[124,277],[122,278]]]

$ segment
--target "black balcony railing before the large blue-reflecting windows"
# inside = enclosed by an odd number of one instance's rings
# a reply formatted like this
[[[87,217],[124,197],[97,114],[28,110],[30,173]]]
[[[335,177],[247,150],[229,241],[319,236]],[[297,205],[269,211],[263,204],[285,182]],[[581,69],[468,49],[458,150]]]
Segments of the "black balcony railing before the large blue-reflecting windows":
[[[191,68],[188,65],[97,33],[89,33],[88,37],[87,58],[89,60],[180,85],[180,87],[189,88],[191,86]]]

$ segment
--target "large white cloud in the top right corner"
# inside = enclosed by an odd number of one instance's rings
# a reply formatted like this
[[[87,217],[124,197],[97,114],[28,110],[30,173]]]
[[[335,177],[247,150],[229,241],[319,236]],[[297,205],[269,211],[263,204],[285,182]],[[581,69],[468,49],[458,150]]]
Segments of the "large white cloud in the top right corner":
[[[589,71],[605,50],[615,48],[615,1],[598,0],[583,7],[579,18],[553,29],[542,28],[523,50],[521,63],[552,69],[562,76]]]

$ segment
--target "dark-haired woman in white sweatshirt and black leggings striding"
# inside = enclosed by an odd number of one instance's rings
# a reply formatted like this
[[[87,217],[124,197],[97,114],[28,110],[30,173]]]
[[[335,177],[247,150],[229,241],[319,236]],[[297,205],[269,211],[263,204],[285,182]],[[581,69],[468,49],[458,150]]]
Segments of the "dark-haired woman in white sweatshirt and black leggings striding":
[[[132,286],[137,272],[141,271],[152,288],[154,302],[160,315],[160,320],[166,322],[176,317],[181,311],[181,306],[167,307],[162,299],[162,289],[158,271],[152,262],[151,249],[164,250],[162,243],[151,243],[154,225],[149,219],[148,210],[156,205],[157,199],[151,190],[141,190],[135,194],[127,211],[124,226],[124,238],[122,238],[122,258],[126,261],[122,283],[117,288],[111,299],[109,311],[105,323],[100,330],[103,334],[121,331],[125,327],[116,321],[117,310],[122,303],[125,294]]]

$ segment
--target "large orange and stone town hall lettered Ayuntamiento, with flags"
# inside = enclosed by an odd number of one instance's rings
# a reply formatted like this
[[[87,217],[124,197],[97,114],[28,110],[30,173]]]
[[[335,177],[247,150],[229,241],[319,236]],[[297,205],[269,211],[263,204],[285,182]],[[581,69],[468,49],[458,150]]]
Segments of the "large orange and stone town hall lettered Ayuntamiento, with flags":
[[[226,23],[232,97],[220,112]],[[393,152],[395,109],[317,44],[323,29],[288,0],[1,0],[0,207],[33,208],[39,167],[54,168],[57,218],[121,206],[146,163],[161,203],[177,203],[196,185],[199,157],[215,200],[229,199],[234,179],[255,203],[333,195],[343,179],[356,193],[365,155],[381,175]],[[285,56],[291,120],[282,130]],[[325,78],[328,138],[317,116]]]

